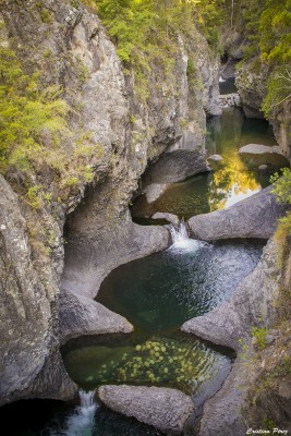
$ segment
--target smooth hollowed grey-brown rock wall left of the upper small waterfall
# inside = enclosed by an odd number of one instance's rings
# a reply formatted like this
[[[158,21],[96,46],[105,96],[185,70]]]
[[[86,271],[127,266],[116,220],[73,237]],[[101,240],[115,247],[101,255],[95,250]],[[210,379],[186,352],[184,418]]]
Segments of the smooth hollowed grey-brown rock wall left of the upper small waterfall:
[[[102,222],[98,193],[71,217],[62,289],[95,298],[105,277],[119,265],[167,249],[170,233],[159,226],[137,226],[130,214]],[[100,221],[99,221],[99,219]]]

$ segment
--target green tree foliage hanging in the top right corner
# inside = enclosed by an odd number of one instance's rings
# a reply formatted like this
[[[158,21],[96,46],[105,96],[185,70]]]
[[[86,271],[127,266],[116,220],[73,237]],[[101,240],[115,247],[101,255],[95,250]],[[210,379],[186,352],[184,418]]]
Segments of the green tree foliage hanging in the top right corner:
[[[266,118],[291,101],[291,0],[241,0],[245,59],[259,57],[268,68]]]

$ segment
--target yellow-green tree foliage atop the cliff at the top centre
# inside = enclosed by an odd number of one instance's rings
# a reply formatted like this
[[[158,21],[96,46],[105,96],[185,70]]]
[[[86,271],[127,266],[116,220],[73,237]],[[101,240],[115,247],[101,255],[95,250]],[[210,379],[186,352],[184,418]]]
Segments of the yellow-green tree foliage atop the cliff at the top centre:
[[[153,64],[165,74],[174,66],[178,35],[198,28],[213,47],[219,44],[222,0],[95,0],[125,68],[133,68],[140,95],[146,97],[146,76]]]

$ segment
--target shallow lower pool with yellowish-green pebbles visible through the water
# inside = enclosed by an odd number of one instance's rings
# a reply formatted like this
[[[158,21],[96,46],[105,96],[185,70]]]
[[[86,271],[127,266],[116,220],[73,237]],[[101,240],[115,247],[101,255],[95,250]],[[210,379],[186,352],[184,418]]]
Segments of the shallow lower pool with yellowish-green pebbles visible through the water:
[[[63,350],[71,377],[86,389],[102,384],[167,386],[211,396],[230,372],[231,354],[181,332],[110,335],[74,340]]]

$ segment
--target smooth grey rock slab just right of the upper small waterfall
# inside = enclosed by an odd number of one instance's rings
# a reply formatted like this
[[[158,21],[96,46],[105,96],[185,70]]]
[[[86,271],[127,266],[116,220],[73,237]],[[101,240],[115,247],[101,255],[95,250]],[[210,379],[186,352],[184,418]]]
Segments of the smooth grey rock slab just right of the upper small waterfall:
[[[217,241],[232,238],[269,239],[286,206],[277,203],[272,186],[225,210],[197,215],[187,221],[192,238]]]

